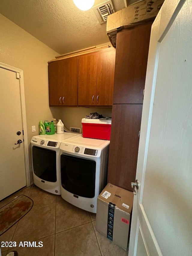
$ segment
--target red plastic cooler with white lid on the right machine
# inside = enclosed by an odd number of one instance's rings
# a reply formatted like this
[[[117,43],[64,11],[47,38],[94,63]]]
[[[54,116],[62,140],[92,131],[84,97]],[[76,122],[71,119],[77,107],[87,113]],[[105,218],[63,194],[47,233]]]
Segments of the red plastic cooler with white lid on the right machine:
[[[111,119],[83,118],[81,123],[84,138],[110,140]]]

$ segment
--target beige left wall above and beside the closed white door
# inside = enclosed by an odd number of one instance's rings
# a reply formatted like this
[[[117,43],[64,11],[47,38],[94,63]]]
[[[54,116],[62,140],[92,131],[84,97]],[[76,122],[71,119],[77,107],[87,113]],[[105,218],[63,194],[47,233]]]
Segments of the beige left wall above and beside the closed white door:
[[[0,62],[23,70],[30,176],[32,160],[30,140],[38,134],[38,122],[51,120],[61,110],[49,109],[48,64],[58,53],[0,14]],[[36,132],[32,133],[32,125]]]

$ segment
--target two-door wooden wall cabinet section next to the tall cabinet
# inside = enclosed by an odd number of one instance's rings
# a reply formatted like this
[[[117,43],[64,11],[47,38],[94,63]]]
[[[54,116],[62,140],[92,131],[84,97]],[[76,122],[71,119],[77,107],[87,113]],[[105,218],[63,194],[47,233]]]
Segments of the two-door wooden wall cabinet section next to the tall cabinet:
[[[79,56],[79,106],[112,106],[115,52],[107,48]]]

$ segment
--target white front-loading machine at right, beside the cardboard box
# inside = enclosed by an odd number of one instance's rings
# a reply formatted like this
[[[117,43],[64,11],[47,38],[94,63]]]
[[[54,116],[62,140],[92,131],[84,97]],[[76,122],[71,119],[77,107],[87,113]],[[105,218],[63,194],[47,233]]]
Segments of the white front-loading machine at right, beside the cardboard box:
[[[97,197],[107,184],[109,140],[69,138],[60,145],[61,197],[96,213]]]

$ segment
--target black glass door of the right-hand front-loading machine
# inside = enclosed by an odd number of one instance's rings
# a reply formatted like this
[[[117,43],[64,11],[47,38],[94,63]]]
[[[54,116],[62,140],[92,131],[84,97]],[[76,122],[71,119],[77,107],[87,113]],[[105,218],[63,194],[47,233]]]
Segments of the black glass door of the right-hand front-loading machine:
[[[96,162],[61,155],[61,185],[70,193],[87,198],[95,197]]]

